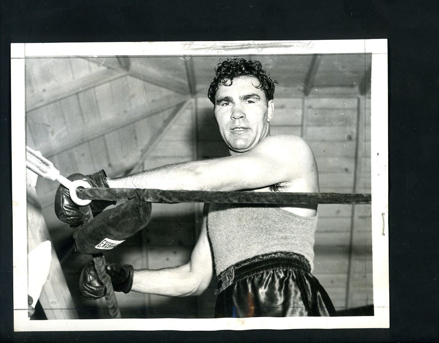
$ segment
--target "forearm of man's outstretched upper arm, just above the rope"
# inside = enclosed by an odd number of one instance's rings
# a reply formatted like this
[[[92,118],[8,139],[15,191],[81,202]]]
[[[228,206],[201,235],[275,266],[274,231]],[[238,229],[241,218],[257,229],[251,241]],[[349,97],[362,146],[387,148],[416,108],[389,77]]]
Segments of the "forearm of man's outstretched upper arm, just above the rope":
[[[204,161],[167,164],[120,178],[108,178],[111,188],[156,188],[174,190],[205,190],[199,170]]]

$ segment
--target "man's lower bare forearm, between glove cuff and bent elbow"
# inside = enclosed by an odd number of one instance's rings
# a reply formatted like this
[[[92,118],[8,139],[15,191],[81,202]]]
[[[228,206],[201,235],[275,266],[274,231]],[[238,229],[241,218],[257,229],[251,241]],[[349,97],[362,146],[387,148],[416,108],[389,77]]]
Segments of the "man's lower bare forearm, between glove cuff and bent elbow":
[[[132,291],[169,297],[196,295],[200,282],[191,274],[189,265],[175,268],[134,270]]]

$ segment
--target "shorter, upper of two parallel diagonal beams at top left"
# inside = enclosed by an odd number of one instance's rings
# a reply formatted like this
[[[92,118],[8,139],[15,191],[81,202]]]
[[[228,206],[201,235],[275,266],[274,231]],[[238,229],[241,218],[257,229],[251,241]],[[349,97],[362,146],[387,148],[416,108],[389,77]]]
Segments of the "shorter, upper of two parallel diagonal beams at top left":
[[[126,75],[128,75],[128,72],[122,69],[115,71],[102,68],[68,83],[50,85],[47,89],[42,89],[39,93],[32,94],[32,98],[26,100],[26,112],[29,113],[38,108],[46,107],[56,101],[68,98],[69,96],[84,92],[104,83],[120,79]]]

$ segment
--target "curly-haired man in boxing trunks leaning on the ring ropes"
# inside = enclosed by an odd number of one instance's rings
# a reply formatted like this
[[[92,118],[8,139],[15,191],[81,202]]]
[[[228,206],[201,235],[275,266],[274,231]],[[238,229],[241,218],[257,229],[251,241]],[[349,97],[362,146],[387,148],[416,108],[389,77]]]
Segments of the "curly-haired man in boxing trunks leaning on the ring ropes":
[[[261,63],[232,58],[215,71],[208,98],[230,156],[106,178],[108,186],[318,192],[308,144],[298,136],[270,136],[277,82]],[[109,264],[107,273],[115,290],[183,297],[203,293],[215,271],[216,317],[331,316],[334,306],[311,274],[316,228],[317,205],[205,204],[187,264],[158,270]],[[85,297],[103,296],[92,263],[84,267],[80,287]]]

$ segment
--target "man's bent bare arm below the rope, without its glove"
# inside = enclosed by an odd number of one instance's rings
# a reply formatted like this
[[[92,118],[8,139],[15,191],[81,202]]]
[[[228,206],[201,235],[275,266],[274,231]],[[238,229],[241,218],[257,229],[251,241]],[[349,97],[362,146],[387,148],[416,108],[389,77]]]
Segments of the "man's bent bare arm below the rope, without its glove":
[[[209,286],[213,270],[206,216],[204,211],[202,230],[192,251],[191,261],[174,268],[135,270],[131,290],[171,297],[203,293]]]

